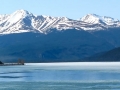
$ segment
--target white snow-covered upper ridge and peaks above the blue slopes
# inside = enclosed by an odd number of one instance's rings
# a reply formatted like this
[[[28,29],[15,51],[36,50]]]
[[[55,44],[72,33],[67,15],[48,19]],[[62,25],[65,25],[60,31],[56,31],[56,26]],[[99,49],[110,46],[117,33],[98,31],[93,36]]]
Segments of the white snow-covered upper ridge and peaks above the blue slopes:
[[[40,32],[56,30],[104,30],[120,27],[120,21],[110,17],[88,14],[80,20],[67,17],[34,15],[26,10],[17,10],[10,15],[0,15],[0,34]]]

